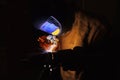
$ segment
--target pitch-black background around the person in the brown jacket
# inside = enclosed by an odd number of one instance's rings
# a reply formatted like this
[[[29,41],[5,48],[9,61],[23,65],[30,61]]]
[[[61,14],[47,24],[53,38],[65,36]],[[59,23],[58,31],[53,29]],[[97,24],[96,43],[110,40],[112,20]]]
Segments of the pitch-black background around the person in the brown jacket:
[[[69,1],[69,0],[66,0]],[[116,54],[117,45],[119,39],[119,24],[118,24],[118,1],[117,0],[81,0],[80,5],[83,10],[95,13],[99,16],[104,16],[111,25],[111,45],[112,58]],[[64,6],[59,7],[59,10],[52,5],[50,0],[1,0],[0,1],[0,76],[1,80],[15,77],[23,77],[23,75],[29,77],[32,71],[24,69],[22,66],[18,66],[21,57],[25,56],[29,52],[34,51],[33,42],[33,21],[40,16],[47,16],[52,14],[61,13]],[[55,13],[55,10],[57,11]],[[64,13],[61,13],[64,14]],[[45,16],[44,15],[44,16]],[[117,57],[111,60],[111,66],[116,66]],[[114,67],[117,69],[117,67]],[[116,71],[111,70],[111,74]],[[27,74],[25,74],[27,73]],[[30,79],[27,78],[26,79]],[[112,78],[113,76],[111,76]],[[116,77],[114,77],[116,78]],[[114,79],[116,80],[116,79]]]

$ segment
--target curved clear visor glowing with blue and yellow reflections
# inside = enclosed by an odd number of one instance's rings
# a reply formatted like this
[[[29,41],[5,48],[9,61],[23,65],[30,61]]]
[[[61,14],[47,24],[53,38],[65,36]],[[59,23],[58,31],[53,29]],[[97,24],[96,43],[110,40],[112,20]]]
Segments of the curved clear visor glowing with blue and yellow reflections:
[[[38,22],[36,28],[54,36],[58,36],[62,31],[60,22],[53,16]]]

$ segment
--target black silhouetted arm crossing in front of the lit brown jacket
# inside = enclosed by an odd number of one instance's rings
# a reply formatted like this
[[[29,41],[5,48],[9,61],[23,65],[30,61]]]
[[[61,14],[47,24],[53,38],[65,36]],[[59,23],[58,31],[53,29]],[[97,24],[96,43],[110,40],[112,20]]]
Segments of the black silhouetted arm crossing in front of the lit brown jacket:
[[[81,65],[86,66],[94,64],[96,61],[101,61],[103,57],[103,55],[92,53],[87,48],[75,47],[73,50],[66,49],[58,51],[54,54],[54,62],[61,64],[63,69],[76,70]]]

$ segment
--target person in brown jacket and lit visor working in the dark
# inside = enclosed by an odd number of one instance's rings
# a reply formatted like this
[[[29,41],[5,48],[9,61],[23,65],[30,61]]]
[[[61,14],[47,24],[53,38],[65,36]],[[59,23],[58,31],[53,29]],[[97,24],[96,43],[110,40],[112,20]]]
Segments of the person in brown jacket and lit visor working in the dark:
[[[67,2],[59,0],[56,3],[65,3],[62,1]],[[44,69],[40,74],[45,76],[44,79],[39,79],[103,80],[101,74],[109,33],[106,25],[99,19],[81,12],[79,5],[75,3],[77,0],[68,2],[70,3],[62,6],[60,3],[55,4],[58,6],[58,15],[53,14],[35,23],[38,30],[45,32],[37,38],[42,50],[40,53],[44,56],[39,55],[37,62],[42,63]],[[46,69],[51,75],[48,78],[44,71]]]

